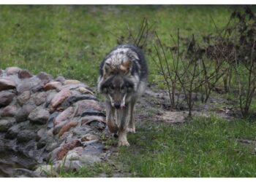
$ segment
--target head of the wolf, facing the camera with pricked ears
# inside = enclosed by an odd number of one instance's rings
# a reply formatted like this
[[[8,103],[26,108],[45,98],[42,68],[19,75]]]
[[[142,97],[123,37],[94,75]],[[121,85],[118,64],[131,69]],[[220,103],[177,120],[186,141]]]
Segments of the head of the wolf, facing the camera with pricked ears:
[[[99,90],[115,108],[124,108],[130,95],[135,91],[135,82],[131,76],[132,61],[126,61],[118,66],[105,63],[103,80]]]

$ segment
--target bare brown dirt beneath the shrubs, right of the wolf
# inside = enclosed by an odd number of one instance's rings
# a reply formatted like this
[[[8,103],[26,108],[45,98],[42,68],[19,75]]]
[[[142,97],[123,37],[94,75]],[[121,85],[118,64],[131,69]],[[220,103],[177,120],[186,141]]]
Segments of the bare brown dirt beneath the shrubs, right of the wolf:
[[[184,96],[180,95],[180,100]],[[148,89],[136,106],[136,119],[140,122],[143,119],[150,118],[155,122],[183,123],[188,116],[186,103],[181,102],[181,109],[172,110],[170,108],[170,99],[165,90]],[[194,106],[193,116],[211,116],[216,115],[225,119],[233,118],[232,103],[225,98],[209,98],[207,103],[197,102]]]

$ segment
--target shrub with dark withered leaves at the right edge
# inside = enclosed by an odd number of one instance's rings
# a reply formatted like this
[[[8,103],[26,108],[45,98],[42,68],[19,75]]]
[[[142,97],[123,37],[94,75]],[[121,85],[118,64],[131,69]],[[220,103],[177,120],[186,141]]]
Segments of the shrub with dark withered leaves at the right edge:
[[[235,10],[222,30],[215,27],[217,35],[205,38],[211,44],[206,49],[207,53],[217,63],[224,62],[227,68],[222,76],[225,92],[232,90],[238,95],[235,100],[241,115],[246,117],[255,93],[256,17],[247,6],[244,11]]]

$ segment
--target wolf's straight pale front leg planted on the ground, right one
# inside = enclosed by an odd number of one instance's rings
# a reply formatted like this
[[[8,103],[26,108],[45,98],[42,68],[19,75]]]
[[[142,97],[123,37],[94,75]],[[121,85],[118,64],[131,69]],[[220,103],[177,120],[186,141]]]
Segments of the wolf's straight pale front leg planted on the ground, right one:
[[[129,146],[127,141],[127,121],[129,108],[118,110],[118,146]]]

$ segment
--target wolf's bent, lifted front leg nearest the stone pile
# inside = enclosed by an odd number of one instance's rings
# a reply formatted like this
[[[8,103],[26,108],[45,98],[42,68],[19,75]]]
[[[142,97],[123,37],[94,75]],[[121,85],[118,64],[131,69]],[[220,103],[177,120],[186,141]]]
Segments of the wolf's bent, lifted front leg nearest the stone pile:
[[[115,108],[113,108],[108,101],[106,101],[106,123],[108,125],[108,130],[116,134],[118,127],[115,122]]]

